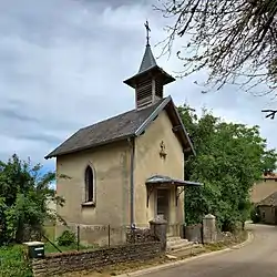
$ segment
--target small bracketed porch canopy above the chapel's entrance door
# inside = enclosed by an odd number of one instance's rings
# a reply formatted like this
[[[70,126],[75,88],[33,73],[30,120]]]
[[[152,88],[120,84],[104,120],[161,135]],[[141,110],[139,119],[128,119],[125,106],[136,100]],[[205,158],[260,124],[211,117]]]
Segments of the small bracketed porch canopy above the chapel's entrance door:
[[[145,184],[147,185],[147,206],[150,196],[155,187],[175,187],[176,189],[176,205],[179,195],[184,192],[185,187],[195,186],[201,187],[203,186],[202,183],[191,182],[191,181],[183,181],[176,179],[164,175],[154,175],[146,179]]]

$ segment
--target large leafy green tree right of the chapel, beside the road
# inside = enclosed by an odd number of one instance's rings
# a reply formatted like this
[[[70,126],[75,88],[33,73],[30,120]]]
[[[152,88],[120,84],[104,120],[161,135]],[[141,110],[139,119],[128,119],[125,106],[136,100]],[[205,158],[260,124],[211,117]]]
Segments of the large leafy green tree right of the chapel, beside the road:
[[[178,107],[196,156],[186,163],[186,179],[204,187],[186,188],[186,223],[194,224],[214,214],[225,230],[244,222],[250,208],[249,189],[263,173],[276,168],[277,153],[266,148],[258,126],[226,123],[203,111],[198,117],[188,106]]]

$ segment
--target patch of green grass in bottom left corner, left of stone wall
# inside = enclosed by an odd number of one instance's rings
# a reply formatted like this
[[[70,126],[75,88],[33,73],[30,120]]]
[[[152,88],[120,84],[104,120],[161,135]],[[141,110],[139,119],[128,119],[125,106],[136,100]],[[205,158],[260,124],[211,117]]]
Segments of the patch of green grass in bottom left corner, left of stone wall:
[[[0,248],[1,277],[31,277],[31,266],[25,258],[24,247],[21,245]]]

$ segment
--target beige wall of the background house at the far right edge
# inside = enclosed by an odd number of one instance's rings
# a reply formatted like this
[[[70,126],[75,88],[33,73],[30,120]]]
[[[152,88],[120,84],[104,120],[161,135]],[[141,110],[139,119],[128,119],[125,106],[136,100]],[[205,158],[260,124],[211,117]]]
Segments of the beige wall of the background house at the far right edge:
[[[270,194],[275,193],[277,191],[277,182],[275,179],[266,179],[260,181],[250,189],[250,198],[252,202],[258,203],[263,199],[265,199]]]

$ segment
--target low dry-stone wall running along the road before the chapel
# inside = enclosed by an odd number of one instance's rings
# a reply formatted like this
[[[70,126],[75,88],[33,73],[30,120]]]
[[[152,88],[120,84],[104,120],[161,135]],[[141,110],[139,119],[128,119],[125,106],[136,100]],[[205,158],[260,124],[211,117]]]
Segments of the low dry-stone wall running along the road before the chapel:
[[[59,253],[33,259],[34,277],[60,276],[64,273],[94,270],[113,264],[146,260],[162,254],[160,242],[130,244],[90,252]]]

